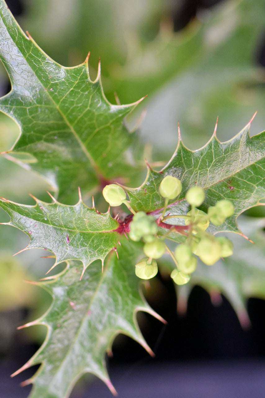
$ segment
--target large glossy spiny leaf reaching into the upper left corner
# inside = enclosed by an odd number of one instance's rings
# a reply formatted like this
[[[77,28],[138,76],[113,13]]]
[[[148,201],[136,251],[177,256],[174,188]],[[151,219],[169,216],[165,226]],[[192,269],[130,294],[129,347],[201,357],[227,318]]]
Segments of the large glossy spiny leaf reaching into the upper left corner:
[[[94,82],[89,77],[88,57],[73,68],[50,59],[25,36],[4,0],[0,35],[0,59],[12,83],[0,99],[0,111],[21,129],[9,158],[43,175],[64,202],[78,186],[88,192],[104,179],[130,174],[124,151],[133,136],[123,119],[137,103],[111,105],[100,68]]]

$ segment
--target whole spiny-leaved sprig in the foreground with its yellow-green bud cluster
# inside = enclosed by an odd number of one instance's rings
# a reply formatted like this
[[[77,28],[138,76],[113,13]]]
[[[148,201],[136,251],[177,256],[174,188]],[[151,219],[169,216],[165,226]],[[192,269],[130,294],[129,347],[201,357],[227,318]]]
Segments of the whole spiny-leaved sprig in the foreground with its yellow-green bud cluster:
[[[237,288],[231,292],[226,278],[208,270],[218,270],[233,252],[230,239],[217,233],[244,236],[237,217],[265,197],[265,132],[250,137],[248,123],[220,142],[215,129],[195,151],[184,146],[179,132],[168,164],[159,171],[147,164],[145,181],[126,187],[143,171],[133,151],[135,133],[123,123],[137,103],[110,104],[100,69],[95,81],[89,77],[88,57],[72,68],[50,59],[23,33],[4,0],[0,35],[0,59],[12,84],[0,111],[21,130],[2,156],[37,172],[54,192],[50,203],[2,198],[0,206],[10,215],[6,224],[29,237],[26,249],[52,252],[53,267],[66,262],[64,271],[35,282],[50,293],[52,304],[22,327],[40,324],[48,331],[19,371],[41,364],[24,383],[33,383],[31,398],[68,397],[88,372],[115,394],[105,363],[114,338],[126,334],[153,355],[135,314],[149,312],[165,322],[143,298],[140,279],[147,284],[163,267],[178,290],[187,283],[214,287],[237,311],[244,309],[240,280],[233,281]],[[106,213],[100,211],[102,191],[110,205]]]

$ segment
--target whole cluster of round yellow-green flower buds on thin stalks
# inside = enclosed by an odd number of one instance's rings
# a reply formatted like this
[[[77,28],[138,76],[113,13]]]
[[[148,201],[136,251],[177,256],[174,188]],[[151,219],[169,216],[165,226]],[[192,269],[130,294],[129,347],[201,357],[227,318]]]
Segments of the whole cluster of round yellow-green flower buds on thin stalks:
[[[161,217],[155,220],[153,215],[147,215],[143,211],[134,213],[126,200],[124,189],[119,185],[110,184],[103,189],[103,196],[110,206],[120,206],[124,203],[134,214],[130,222],[129,237],[135,242],[140,240],[144,242],[143,252],[146,257],[135,265],[135,273],[141,279],[150,279],[157,274],[156,260],[161,258],[165,252],[170,254],[176,264],[176,269],[172,271],[170,276],[177,285],[188,283],[191,273],[197,267],[197,257],[206,265],[213,265],[220,258],[233,254],[233,244],[228,238],[224,236],[215,237],[206,232],[210,222],[219,226],[227,217],[233,215],[234,206],[232,202],[226,199],[218,201],[214,206],[209,207],[207,213],[205,213],[197,208],[203,204],[205,199],[204,189],[196,185],[190,187],[185,196],[191,210],[186,215],[165,216],[168,201],[176,199],[181,191],[182,183],[178,178],[168,175],[162,179],[159,193],[165,199],[164,209]],[[187,226],[187,232],[183,233],[182,229],[182,234],[186,237],[186,240],[184,244],[179,244],[176,247],[174,253],[164,242],[167,234],[157,235],[160,222],[164,227],[164,221],[169,218],[182,218]],[[177,225],[168,224],[168,226],[168,230],[171,228],[178,231]]]

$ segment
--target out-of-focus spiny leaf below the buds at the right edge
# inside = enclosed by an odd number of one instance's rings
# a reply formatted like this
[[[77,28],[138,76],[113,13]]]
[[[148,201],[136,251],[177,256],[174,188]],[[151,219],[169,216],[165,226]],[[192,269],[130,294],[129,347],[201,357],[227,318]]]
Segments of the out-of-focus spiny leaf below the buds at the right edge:
[[[201,285],[210,294],[222,293],[234,307],[242,326],[248,326],[247,299],[265,298],[265,219],[242,216],[239,226],[254,244],[237,234],[227,234],[233,242],[234,254],[213,267],[199,261],[191,284]]]

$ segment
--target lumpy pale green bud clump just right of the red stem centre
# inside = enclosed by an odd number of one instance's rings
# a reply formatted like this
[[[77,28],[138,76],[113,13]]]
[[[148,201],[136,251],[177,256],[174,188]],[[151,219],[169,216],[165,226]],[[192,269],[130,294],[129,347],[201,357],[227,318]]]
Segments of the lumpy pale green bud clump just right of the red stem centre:
[[[130,224],[129,236],[135,242],[141,238],[147,237],[146,241],[153,240],[153,235],[157,233],[158,226],[152,215],[145,214],[144,211],[139,211],[133,216]]]

